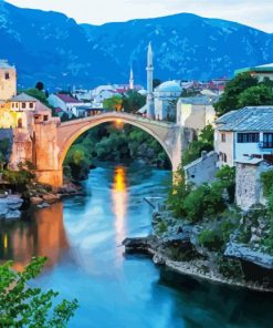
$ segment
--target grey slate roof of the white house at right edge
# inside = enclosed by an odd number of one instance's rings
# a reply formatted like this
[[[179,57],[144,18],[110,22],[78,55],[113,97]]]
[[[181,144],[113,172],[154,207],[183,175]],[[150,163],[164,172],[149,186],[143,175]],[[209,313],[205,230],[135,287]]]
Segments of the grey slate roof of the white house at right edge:
[[[217,120],[219,131],[273,131],[273,105],[249,106]]]

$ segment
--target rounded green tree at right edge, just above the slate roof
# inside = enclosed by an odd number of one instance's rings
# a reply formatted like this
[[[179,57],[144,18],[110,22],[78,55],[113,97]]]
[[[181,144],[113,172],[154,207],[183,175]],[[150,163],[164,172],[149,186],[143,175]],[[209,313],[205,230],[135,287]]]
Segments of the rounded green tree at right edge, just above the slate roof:
[[[251,86],[240,93],[238,104],[240,107],[273,105],[273,89],[264,84]]]

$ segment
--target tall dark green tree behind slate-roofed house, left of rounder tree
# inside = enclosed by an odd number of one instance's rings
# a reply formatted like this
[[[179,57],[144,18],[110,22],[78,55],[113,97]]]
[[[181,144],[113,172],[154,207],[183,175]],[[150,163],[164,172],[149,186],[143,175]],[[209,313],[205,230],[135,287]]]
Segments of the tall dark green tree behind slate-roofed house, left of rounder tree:
[[[214,103],[217,114],[221,116],[227,112],[240,109],[239,95],[246,89],[256,86],[258,84],[258,79],[250,73],[239,74],[229,81],[225,85],[224,93]]]

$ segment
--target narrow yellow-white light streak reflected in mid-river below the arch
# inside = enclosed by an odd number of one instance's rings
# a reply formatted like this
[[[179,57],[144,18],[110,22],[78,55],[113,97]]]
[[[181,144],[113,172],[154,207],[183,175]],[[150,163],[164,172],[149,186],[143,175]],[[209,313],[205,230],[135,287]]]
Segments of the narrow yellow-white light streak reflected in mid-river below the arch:
[[[122,243],[126,235],[126,212],[128,205],[128,193],[126,184],[126,168],[117,166],[114,173],[112,186],[112,211],[115,215],[116,242]]]

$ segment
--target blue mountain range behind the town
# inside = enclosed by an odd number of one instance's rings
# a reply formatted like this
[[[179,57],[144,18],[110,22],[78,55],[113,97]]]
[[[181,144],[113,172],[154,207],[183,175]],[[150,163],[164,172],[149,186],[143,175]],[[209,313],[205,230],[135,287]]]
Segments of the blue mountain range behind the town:
[[[103,25],[77,24],[57,12],[20,9],[0,0],[0,58],[18,68],[19,83],[92,88],[146,82],[151,41],[155,76],[209,80],[273,62],[273,34],[219,19],[180,13]]]

